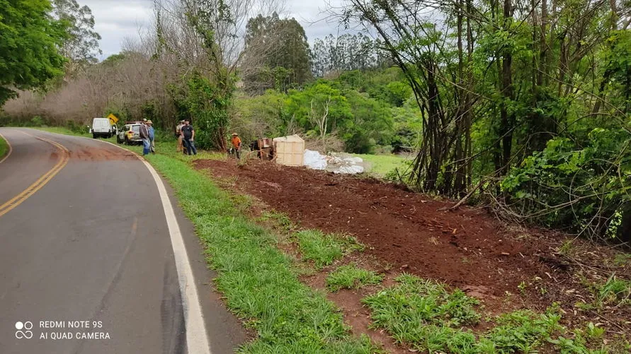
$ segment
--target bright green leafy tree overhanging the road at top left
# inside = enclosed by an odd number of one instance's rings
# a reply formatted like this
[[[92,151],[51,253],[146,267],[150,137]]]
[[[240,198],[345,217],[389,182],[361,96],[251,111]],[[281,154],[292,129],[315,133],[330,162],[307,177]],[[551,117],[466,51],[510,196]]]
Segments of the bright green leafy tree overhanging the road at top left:
[[[38,88],[62,73],[62,25],[46,0],[0,0],[0,106],[14,88]]]

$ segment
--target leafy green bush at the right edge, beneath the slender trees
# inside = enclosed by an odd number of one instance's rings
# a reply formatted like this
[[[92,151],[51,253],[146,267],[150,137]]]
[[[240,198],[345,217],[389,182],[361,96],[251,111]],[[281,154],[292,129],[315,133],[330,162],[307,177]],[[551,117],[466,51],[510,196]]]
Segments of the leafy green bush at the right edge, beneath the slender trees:
[[[630,188],[631,136],[625,129],[593,129],[583,146],[552,139],[501,182],[516,210],[532,220],[608,237],[623,237],[629,228],[623,220],[631,213]]]

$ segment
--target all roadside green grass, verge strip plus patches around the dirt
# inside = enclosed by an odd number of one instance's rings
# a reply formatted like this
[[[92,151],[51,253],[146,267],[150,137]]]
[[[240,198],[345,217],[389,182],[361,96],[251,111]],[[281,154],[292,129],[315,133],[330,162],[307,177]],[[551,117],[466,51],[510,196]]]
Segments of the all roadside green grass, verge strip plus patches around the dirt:
[[[127,147],[140,152],[142,147]],[[295,261],[278,249],[278,238],[243,216],[244,201],[234,202],[206,175],[194,170],[192,157],[174,152],[174,143],[158,143],[159,155],[147,160],[169,180],[188,218],[205,244],[207,260],[217,270],[217,288],[228,307],[246,325],[258,332],[256,341],[241,348],[242,353],[373,353],[366,339],[348,334],[341,314],[326,300],[298,280]],[[201,157],[217,158],[204,153]],[[280,218],[281,216],[278,216]],[[302,258],[316,269],[341,259],[353,244],[318,230],[295,232],[291,220],[279,220],[297,243]],[[628,353],[631,347],[606,344],[599,324],[559,324],[562,314],[551,308],[537,314],[516,311],[485,321],[487,331],[474,333],[484,318],[479,303],[460,290],[440,283],[402,275],[396,284],[368,295],[363,303],[370,309],[372,326],[387,331],[397,343],[414,351],[430,353]],[[354,265],[329,273],[327,288],[358,288],[379,283],[369,271]],[[631,285],[612,278],[600,291],[604,301],[628,298]],[[622,290],[620,290],[622,289]],[[625,293],[625,291],[627,291]],[[609,298],[613,300],[608,300]],[[617,302],[616,302],[617,303]],[[621,343],[622,344],[622,343]]]

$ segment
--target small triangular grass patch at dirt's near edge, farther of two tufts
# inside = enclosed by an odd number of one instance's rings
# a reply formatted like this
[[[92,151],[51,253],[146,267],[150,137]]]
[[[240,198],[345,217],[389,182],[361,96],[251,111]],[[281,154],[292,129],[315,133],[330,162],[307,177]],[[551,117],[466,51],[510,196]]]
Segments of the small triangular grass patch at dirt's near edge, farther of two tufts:
[[[353,237],[324,234],[320,230],[296,232],[295,239],[300,247],[302,259],[314,261],[317,269],[331,265],[348,252],[363,249]]]

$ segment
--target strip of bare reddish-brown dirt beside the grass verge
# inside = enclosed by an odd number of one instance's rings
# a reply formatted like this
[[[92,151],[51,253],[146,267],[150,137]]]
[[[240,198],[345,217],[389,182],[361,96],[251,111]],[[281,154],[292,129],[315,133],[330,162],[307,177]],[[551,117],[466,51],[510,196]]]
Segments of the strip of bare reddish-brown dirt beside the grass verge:
[[[244,166],[235,160],[194,164],[227,187],[286,213],[302,228],[353,235],[367,245],[366,253],[396,269],[468,290],[491,312],[491,303],[497,310],[506,305],[506,292],[524,293],[510,307],[540,310],[553,300],[571,309],[581,296],[589,296],[569,272],[571,265],[555,252],[563,239],[548,231],[510,228],[482,209],[443,210],[453,202],[376,179],[258,160]],[[528,288],[520,291],[522,282]]]

